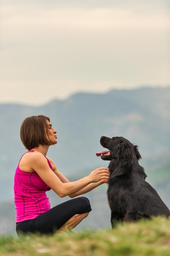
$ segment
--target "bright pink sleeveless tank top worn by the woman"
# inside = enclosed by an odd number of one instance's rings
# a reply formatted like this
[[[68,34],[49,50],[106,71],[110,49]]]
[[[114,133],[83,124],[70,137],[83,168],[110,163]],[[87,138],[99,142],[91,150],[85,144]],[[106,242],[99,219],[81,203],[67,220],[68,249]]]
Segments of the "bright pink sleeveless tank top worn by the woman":
[[[33,151],[35,150],[28,152]],[[47,157],[46,159],[52,169],[50,161]],[[42,213],[50,210],[49,198],[46,195],[46,191],[50,190],[50,187],[41,180],[36,172],[27,173],[20,170],[19,164],[14,176],[16,222],[35,219]]]

